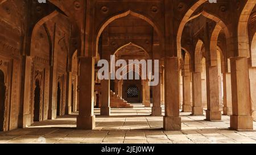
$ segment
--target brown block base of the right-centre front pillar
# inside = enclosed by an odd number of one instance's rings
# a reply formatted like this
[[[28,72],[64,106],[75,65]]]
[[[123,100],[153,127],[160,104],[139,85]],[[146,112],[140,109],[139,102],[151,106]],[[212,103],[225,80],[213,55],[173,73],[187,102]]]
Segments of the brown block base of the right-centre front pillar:
[[[181,118],[164,116],[164,130],[166,131],[179,131],[181,130]]]

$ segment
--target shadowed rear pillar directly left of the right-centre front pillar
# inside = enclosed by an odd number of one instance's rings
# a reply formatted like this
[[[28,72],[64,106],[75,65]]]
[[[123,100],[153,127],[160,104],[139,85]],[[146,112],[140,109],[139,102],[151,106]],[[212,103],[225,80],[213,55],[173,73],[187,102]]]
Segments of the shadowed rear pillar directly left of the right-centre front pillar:
[[[160,74],[159,74],[160,77]],[[162,107],[161,107],[161,81],[158,85],[153,86],[153,107],[152,107],[153,116],[162,116]]]

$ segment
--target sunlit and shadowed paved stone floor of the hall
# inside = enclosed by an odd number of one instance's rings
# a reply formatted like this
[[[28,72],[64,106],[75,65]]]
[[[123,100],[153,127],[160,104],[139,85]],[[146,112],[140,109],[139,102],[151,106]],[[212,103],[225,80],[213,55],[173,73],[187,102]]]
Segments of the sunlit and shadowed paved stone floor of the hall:
[[[96,109],[94,131],[77,130],[77,114],[73,114],[0,132],[0,143],[256,143],[256,131],[228,130],[229,116],[221,122],[207,122],[205,116],[181,113],[182,131],[163,131],[162,116],[150,116],[151,109],[141,104],[134,106],[113,109],[109,117],[98,116]]]

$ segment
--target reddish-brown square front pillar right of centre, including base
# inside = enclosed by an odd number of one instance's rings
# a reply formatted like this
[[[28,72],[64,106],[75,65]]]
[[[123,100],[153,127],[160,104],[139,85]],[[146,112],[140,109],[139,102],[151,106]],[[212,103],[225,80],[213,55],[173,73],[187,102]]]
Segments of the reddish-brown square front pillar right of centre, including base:
[[[166,57],[164,60],[165,72],[165,116],[164,130],[177,131],[181,129],[179,111],[180,102],[180,64],[178,57]]]

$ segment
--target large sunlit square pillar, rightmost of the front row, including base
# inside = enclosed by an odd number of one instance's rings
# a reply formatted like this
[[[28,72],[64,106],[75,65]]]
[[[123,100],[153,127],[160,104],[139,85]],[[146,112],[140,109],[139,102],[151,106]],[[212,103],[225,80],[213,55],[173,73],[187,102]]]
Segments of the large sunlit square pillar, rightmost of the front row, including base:
[[[250,86],[247,57],[230,58],[232,82],[232,111],[230,128],[253,129],[250,111]]]

